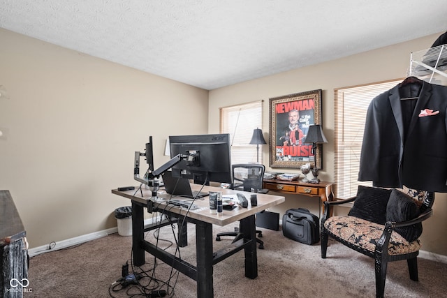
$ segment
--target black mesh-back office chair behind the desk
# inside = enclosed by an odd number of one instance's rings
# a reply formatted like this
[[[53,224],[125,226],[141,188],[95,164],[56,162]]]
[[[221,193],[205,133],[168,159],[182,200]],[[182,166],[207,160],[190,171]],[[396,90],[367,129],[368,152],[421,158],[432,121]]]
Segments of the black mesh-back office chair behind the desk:
[[[268,193],[267,189],[263,189],[263,177],[265,166],[259,164],[237,164],[232,165],[233,183],[230,188],[237,191],[249,191],[251,193]],[[247,198],[249,200],[249,198]],[[259,249],[264,249],[264,242],[259,239],[263,237],[261,230],[256,230],[256,242]],[[220,241],[222,236],[235,237],[233,242],[242,239],[239,228],[235,228],[234,232],[222,232],[217,234],[216,241]]]

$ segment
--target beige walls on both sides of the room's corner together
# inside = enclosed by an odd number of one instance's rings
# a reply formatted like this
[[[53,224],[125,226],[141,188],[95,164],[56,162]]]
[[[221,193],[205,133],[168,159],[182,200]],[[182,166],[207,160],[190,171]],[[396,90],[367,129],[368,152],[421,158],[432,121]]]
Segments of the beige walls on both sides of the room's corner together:
[[[0,99],[0,189],[13,195],[31,248],[111,228],[116,226],[113,210],[129,201],[110,189],[135,184],[133,151],[142,151],[149,135],[159,166],[168,160],[163,156],[168,135],[219,132],[219,107],[265,100],[262,128],[267,135],[268,98],[313,89],[323,89],[329,141],[320,177],[331,181],[333,89],[405,77],[410,52],[430,47],[437,36],[208,94],[0,29],[0,85],[10,94]],[[268,165],[268,146],[263,158]],[[288,196],[273,211],[284,214],[290,207],[318,213],[316,199],[298,196]],[[447,255],[447,239],[436,232],[447,228],[446,195],[437,194],[434,211],[424,225],[423,250]]]

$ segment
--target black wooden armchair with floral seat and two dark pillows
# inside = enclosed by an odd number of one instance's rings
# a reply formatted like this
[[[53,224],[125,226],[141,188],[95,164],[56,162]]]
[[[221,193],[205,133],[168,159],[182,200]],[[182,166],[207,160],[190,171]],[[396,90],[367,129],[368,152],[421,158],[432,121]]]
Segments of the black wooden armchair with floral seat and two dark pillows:
[[[335,205],[353,202],[348,216],[330,216]],[[432,216],[434,193],[411,188],[359,186],[354,198],[327,201],[321,219],[321,258],[328,237],[375,260],[376,297],[383,297],[388,262],[407,260],[410,278],[418,281],[417,255],[422,221]]]

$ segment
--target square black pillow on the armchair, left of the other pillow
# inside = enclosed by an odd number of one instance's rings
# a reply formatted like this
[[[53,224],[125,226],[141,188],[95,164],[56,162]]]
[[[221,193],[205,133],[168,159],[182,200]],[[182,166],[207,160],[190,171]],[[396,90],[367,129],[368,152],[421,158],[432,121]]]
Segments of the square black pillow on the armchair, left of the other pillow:
[[[390,194],[390,189],[359,185],[357,198],[348,215],[384,225]]]

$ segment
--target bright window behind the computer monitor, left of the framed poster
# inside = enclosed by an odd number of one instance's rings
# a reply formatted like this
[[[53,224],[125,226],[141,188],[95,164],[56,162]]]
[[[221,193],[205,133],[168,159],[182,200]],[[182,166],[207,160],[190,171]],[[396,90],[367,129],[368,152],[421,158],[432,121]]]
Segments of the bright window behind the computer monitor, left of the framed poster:
[[[253,131],[262,128],[262,100],[244,105],[221,107],[221,133],[229,133],[231,163],[256,163],[256,145],[249,144]],[[262,145],[259,162],[263,163]],[[265,146],[265,145],[264,145]]]

